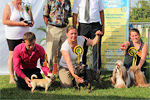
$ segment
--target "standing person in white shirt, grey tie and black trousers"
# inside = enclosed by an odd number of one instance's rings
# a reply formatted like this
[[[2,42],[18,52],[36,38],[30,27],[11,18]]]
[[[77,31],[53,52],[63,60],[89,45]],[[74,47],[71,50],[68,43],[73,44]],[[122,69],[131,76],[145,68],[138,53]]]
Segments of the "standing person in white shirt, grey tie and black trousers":
[[[102,0],[74,0],[72,12],[74,27],[76,27],[77,22],[79,22],[79,35],[93,39],[97,30],[103,32],[100,36],[98,51],[100,57],[99,65],[101,66],[101,38],[104,35],[104,6]],[[87,50],[88,47],[84,45],[83,64],[86,64]],[[92,51],[93,68],[97,70],[97,45],[93,47]],[[100,68],[98,69],[100,70]]]

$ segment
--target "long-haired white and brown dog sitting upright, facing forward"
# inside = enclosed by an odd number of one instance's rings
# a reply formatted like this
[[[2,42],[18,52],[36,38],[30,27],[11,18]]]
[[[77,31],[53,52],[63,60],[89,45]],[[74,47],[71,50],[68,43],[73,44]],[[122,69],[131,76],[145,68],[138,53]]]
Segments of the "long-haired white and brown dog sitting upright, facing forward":
[[[125,66],[123,66],[123,63],[121,60],[118,60],[115,63],[115,68],[113,70],[113,75],[110,78],[110,81],[112,82],[113,86],[115,88],[127,88],[130,86],[131,79],[130,75],[127,72]]]

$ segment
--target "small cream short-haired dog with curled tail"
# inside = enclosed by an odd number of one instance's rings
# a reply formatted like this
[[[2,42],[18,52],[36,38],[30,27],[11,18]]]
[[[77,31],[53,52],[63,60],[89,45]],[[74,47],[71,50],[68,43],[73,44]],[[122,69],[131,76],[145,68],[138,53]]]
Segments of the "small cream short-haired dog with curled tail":
[[[33,74],[31,76],[32,93],[37,86],[45,88],[46,93],[49,86],[52,84],[52,81],[54,80],[54,75],[52,73],[48,73],[48,75],[45,76],[45,79],[33,79],[34,77],[37,78],[37,75]]]

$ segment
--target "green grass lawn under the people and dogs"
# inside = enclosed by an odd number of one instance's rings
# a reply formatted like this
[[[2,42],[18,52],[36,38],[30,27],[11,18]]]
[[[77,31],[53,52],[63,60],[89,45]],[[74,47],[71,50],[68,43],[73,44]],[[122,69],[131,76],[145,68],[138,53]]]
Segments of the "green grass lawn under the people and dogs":
[[[31,93],[30,90],[22,90],[16,87],[16,85],[8,84],[9,75],[0,76],[0,99],[150,99],[150,88],[125,88],[115,89],[111,86],[109,78],[111,73],[103,72],[101,75],[102,86],[97,87],[91,93],[88,93],[87,89],[81,88],[81,91],[73,88],[61,88],[59,80],[52,84],[48,92],[45,93],[44,89],[35,90]]]

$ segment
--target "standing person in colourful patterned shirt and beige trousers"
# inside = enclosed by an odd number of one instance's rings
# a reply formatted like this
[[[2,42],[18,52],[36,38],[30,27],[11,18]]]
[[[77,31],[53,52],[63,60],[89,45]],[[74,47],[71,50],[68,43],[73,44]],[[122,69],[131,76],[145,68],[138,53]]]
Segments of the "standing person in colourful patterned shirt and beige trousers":
[[[70,0],[46,0],[43,19],[47,26],[46,47],[48,63],[52,71],[53,58],[58,50],[60,59],[60,47],[66,39],[65,33],[71,16]]]

